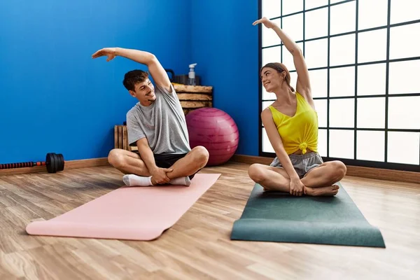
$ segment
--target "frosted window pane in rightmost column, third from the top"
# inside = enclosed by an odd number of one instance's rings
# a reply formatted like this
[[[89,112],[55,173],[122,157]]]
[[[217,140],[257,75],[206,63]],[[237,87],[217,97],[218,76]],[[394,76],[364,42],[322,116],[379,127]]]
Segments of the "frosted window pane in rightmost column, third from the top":
[[[389,93],[419,93],[420,60],[389,64]]]

